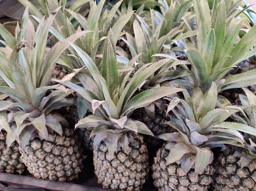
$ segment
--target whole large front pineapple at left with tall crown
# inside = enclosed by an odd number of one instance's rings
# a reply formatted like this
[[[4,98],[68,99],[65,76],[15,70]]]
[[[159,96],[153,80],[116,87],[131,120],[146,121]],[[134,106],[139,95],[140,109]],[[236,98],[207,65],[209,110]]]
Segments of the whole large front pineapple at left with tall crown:
[[[72,93],[65,87],[47,85],[58,56],[69,46],[68,41],[73,42],[87,32],[78,32],[47,48],[49,29],[58,10],[47,20],[43,18],[35,31],[26,8],[15,37],[0,26],[6,46],[0,54],[0,77],[6,85],[0,86],[0,92],[13,99],[0,101],[0,110],[2,127],[7,131],[6,144],[11,146],[18,141],[21,159],[29,172],[37,178],[65,181],[77,177],[82,155],[68,122],[54,111],[74,105],[75,101],[65,98]],[[15,123],[10,126],[8,120]]]

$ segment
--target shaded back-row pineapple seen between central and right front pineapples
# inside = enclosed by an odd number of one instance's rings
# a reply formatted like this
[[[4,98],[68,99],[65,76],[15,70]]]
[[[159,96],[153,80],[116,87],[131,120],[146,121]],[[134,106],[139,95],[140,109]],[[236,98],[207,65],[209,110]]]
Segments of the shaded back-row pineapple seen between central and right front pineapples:
[[[129,46],[131,55],[138,58],[138,64],[135,66],[135,68],[140,68],[146,63],[158,61],[159,57],[157,55],[170,57],[169,55],[161,54],[163,51],[163,46],[167,40],[175,39],[175,36],[177,36],[177,34],[181,34],[183,30],[174,28],[171,29],[168,34],[162,34],[162,30],[166,22],[165,20],[163,20],[154,31],[154,29],[150,30],[149,26],[146,25],[145,21],[140,16],[137,17],[141,24],[139,24],[137,20],[134,21],[135,38],[131,37],[131,35],[128,33],[126,33],[128,40],[122,38]],[[173,60],[174,62],[166,63],[159,70],[154,72],[148,79],[146,79],[146,81],[142,84],[140,91],[143,92],[144,90],[152,87],[160,87],[165,81],[188,75],[187,72],[184,72],[181,69],[173,69],[178,64],[187,64],[188,62],[179,61],[175,59],[175,57],[173,57]],[[169,115],[166,115],[166,109],[167,107],[165,100],[159,99],[158,101],[135,111],[132,118],[145,123],[153,134],[158,136],[166,132],[171,132],[170,128],[164,124],[165,122],[169,121]],[[145,142],[148,144],[148,147],[150,147],[150,150],[157,150],[162,144],[160,140],[156,140],[152,136],[144,137]]]

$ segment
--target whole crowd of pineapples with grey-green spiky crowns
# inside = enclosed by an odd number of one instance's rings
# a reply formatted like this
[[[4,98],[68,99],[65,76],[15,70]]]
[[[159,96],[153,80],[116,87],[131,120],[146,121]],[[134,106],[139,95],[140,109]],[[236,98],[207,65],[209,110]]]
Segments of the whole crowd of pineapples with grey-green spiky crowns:
[[[215,190],[256,189],[256,96],[245,88],[256,71],[229,74],[256,53],[241,1],[160,0],[135,12],[121,1],[19,1],[15,36],[0,25],[0,171],[72,180],[88,165],[80,139],[94,138],[98,182],[141,190],[154,135],[166,141],[152,166],[159,190],[207,190],[213,179]],[[241,105],[223,96],[232,88],[243,88]]]

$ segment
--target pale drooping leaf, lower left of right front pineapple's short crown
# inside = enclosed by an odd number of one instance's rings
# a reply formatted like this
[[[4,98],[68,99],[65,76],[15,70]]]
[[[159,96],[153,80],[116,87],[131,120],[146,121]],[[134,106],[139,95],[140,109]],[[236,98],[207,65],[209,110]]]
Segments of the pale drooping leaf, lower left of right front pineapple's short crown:
[[[177,160],[180,160],[184,154],[193,153],[194,151],[188,145],[183,142],[177,143],[172,147],[170,153],[166,157],[166,165],[172,164]]]

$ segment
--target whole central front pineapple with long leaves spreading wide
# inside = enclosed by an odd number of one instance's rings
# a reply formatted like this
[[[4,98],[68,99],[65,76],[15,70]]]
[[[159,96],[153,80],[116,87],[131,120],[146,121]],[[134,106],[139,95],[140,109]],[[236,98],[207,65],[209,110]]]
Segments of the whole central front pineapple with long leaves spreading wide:
[[[129,79],[133,68],[118,73],[112,30],[105,39],[101,72],[88,54],[73,44],[72,47],[80,55],[92,78],[80,74],[81,68],[56,81],[79,94],[83,104],[93,113],[79,120],[76,127],[94,128],[90,136],[95,136],[94,166],[98,182],[104,188],[141,190],[149,168],[148,150],[139,134],[152,135],[152,132],[144,123],[129,119],[129,115],[136,108],[182,89],[157,87],[136,96],[134,93],[146,78],[171,60],[145,65]],[[69,81],[76,72],[79,72],[83,87]]]

